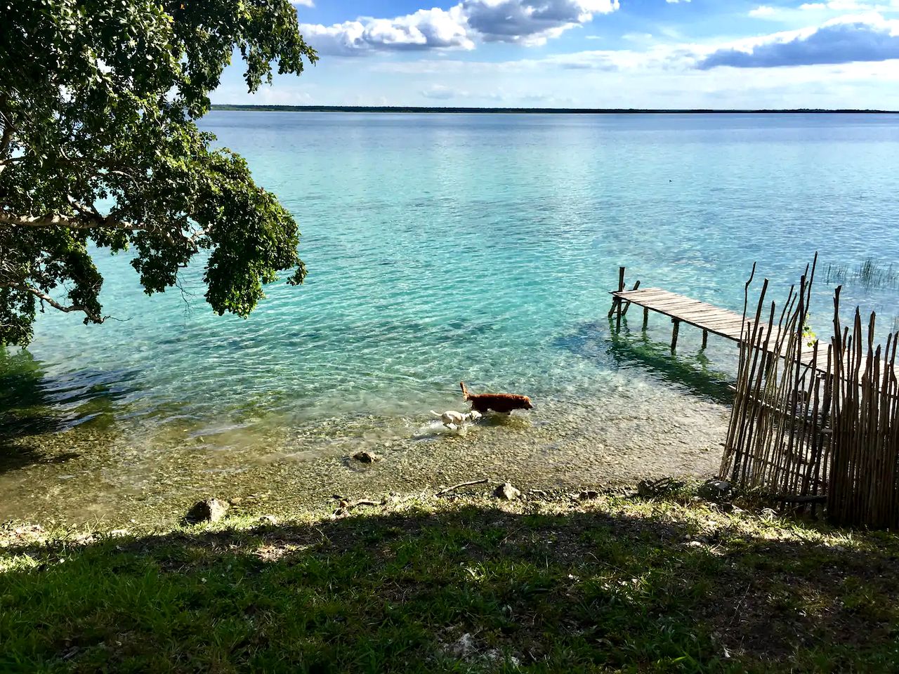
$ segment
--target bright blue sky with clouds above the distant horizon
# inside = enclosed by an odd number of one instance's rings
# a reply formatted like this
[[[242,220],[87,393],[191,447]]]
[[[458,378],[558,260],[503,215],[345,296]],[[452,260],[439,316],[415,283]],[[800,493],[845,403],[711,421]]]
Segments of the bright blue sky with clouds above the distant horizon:
[[[899,110],[899,0],[294,0],[320,60],[213,102]]]

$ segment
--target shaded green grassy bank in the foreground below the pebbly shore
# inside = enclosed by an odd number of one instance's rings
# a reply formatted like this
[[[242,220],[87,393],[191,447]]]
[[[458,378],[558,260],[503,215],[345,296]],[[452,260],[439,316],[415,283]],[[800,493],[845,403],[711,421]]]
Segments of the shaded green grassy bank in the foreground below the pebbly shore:
[[[0,671],[899,670],[895,535],[689,490],[0,545]]]

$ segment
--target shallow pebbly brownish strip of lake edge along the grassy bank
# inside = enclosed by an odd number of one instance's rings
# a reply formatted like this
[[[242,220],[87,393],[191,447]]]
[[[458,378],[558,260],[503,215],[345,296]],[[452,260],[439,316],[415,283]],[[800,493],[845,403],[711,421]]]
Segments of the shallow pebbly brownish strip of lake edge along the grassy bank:
[[[312,424],[302,437],[278,424],[271,433],[174,429],[152,439],[130,434],[127,422],[76,427],[13,442],[17,465],[0,471],[0,521],[165,524],[206,498],[281,515],[325,511],[335,493],[379,499],[482,478],[522,490],[595,489],[662,475],[707,478],[720,465],[726,411],[717,404],[697,404],[677,421],[604,413],[590,430],[577,414],[545,412],[487,419],[465,436],[430,419]],[[360,451],[378,460],[361,463],[353,458]]]

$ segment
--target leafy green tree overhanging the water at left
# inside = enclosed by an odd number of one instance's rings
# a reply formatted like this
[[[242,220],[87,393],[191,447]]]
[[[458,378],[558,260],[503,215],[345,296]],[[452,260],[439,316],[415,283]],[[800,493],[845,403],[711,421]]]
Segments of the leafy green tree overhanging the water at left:
[[[102,323],[88,241],[135,251],[149,295],[207,256],[206,300],[246,316],[291,270],[296,222],[196,120],[239,50],[252,93],[316,52],[288,0],[11,0],[0,9],[0,344],[38,310]]]

